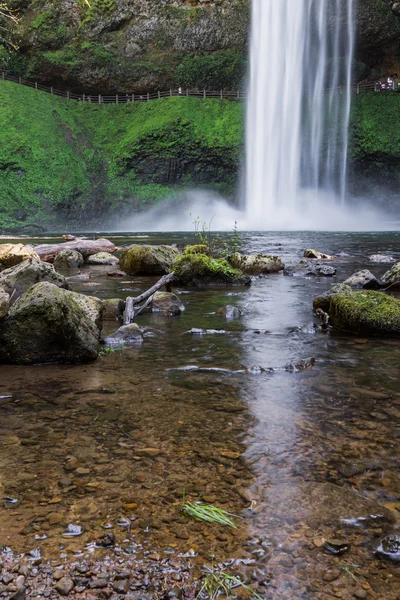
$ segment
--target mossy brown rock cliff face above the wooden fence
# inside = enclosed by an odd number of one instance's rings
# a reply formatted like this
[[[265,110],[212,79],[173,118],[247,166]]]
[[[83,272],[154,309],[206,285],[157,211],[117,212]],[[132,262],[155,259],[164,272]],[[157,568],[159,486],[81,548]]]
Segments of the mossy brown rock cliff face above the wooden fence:
[[[0,52],[0,61],[17,75],[81,93],[242,83],[249,0],[89,2],[12,0],[22,15],[20,50],[8,58]],[[392,0],[356,3],[360,78],[400,71],[396,14],[400,3]]]

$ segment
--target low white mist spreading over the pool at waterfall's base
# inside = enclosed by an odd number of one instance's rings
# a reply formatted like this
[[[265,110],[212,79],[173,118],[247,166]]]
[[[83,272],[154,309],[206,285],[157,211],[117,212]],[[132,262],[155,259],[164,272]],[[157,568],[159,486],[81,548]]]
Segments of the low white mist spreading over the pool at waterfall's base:
[[[352,206],[340,210],[335,198],[327,192],[304,190],[301,194],[303,209],[290,208],[271,211],[263,223],[248,212],[236,208],[218,194],[192,190],[180,198],[166,199],[157,206],[117,223],[115,231],[156,232],[193,231],[199,219],[211,231],[232,231],[235,223],[239,231],[397,231],[400,221],[393,215],[377,210],[365,199],[352,201]],[[265,224],[264,224],[265,223]]]

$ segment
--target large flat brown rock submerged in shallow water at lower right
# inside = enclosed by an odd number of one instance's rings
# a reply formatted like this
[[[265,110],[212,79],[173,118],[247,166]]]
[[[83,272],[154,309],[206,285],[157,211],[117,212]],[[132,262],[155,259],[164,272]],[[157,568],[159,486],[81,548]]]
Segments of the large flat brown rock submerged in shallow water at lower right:
[[[332,483],[281,483],[266,495],[266,513],[282,521],[305,522],[312,528],[344,519],[378,516],[393,523],[391,511],[363,498],[346,487]]]

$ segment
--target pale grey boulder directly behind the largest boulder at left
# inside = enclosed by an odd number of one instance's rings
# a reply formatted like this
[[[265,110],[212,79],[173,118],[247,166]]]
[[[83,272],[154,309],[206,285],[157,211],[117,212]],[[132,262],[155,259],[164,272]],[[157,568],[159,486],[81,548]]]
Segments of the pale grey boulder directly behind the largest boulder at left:
[[[48,281],[54,285],[68,289],[65,277],[57,273],[53,265],[42,262],[39,258],[28,258],[22,263],[0,273],[0,286],[12,295],[12,302],[21,296],[35,283]]]

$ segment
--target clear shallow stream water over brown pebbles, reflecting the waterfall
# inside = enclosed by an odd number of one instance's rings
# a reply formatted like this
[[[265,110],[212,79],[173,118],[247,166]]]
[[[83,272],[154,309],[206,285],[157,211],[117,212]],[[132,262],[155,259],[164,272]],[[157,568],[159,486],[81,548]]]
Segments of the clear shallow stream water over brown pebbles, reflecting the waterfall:
[[[244,245],[287,263],[308,247],[348,256],[334,278],[179,290],[183,315],[139,317],[151,328],[141,346],[90,365],[0,366],[0,493],[21,501],[0,508],[0,544],[72,556],[111,524],[137,556],[236,561],[263,598],[398,597],[398,563],[375,550],[400,524],[399,342],[323,333],[312,299],[360,268],[382,275],[388,265],[367,257],[399,259],[400,234],[246,234]],[[126,297],[153,282],[107,270],[91,267],[72,289]],[[239,321],[215,315],[228,303]],[[311,357],[313,367],[290,367]],[[183,497],[240,515],[238,529],[189,520]],[[68,524],[85,531],[64,538]],[[321,547],[337,538],[350,544],[342,556]]]

